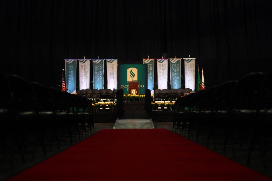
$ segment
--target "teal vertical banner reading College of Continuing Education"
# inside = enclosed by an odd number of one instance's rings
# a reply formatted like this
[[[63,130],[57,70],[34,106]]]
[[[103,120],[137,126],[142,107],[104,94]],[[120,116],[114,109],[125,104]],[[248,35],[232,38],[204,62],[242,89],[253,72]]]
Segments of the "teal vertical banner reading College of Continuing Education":
[[[104,60],[92,60],[93,88],[104,89]]]

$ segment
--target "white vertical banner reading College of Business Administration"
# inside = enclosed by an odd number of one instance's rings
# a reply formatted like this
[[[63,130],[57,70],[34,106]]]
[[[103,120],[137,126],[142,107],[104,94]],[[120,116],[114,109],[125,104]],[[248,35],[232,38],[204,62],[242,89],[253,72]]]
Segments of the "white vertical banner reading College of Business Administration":
[[[90,59],[79,59],[79,90],[90,88]]]

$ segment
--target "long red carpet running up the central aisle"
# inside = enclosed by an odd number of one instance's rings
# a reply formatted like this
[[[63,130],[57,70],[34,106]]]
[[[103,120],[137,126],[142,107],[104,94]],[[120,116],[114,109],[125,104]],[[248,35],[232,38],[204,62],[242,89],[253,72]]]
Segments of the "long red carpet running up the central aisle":
[[[110,129],[10,180],[271,179],[166,129]]]

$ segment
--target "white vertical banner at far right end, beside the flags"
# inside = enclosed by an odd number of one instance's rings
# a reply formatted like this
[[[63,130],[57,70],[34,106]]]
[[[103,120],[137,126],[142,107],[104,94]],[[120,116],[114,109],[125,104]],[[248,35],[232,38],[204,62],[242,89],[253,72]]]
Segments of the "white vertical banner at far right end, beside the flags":
[[[185,88],[195,90],[196,59],[184,59]]]

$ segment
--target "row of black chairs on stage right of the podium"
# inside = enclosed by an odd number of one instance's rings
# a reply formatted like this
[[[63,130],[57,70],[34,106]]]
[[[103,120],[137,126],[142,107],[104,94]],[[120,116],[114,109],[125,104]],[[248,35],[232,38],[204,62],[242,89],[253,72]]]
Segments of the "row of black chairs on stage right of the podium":
[[[192,92],[192,89],[189,88],[179,88],[179,89],[155,89],[154,90],[154,100],[176,100],[185,95],[189,95]]]

